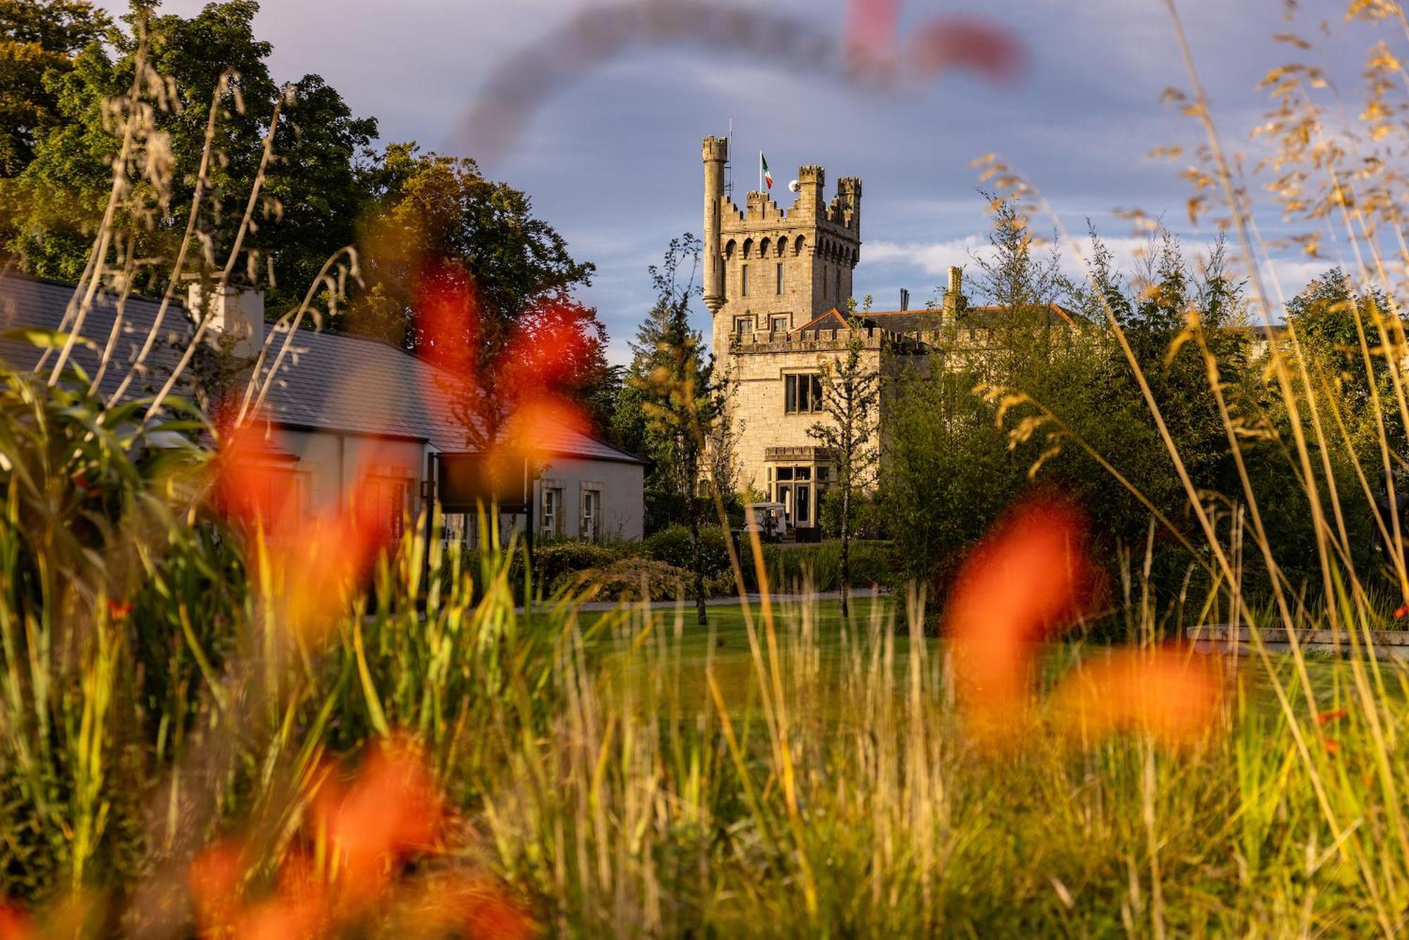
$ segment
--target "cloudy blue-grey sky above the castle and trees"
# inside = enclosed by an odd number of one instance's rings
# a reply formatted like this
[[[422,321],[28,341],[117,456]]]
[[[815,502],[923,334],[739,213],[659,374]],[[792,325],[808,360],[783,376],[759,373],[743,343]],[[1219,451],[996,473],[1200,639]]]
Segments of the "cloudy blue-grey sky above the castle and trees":
[[[719,0],[724,6],[727,0]],[[120,6],[108,3],[107,6]],[[125,4],[124,4],[125,6]],[[190,14],[201,0],[166,0]],[[278,79],[316,72],[352,108],[380,121],[383,141],[483,158],[465,128],[486,80],[579,14],[586,0],[263,0],[258,32],[275,52]],[[1295,20],[1275,0],[1181,0],[1215,118],[1231,146],[1255,153],[1247,131],[1265,101],[1254,90],[1272,65],[1337,63],[1353,89],[1367,27],[1343,23],[1340,0],[1302,0]],[[764,8],[750,3],[747,8]],[[840,32],[841,0],[772,0],[790,14]],[[651,303],[647,266],[666,242],[700,229],[699,142],[734,127],[735,194],[757,180],[762,149],[775,193],[800,163],[821,163],[828,186],[861,176],[862,252],[857,293],[893,307],[906,287],[923,303],[951,263],[983,241],[985,204],[969,162],[999,153],[1048,198],[1065,227],[1091,217],[1117,255],[1138,239],[1116,207],[1164,215],[1188,245],[1182,163],[1150,162],[1158,145],[1198,142],[1199,129],[1160,104],[1164,89],[1188,86],[1168,11],[1160,0],[907,0],[902,31],[934,15],[969,14],[1005,24],[1023,44],[1020,79],[995,86],[951,73],[906,94],[857,90],[821,70],[792,72],[766,55],[713,53],[697,46],[630,49],[576,75],[527,115],[521,135],[483,170],[526,190],[572,252],[597,265],[586,303],[597,307],[616,360]],[[1326,17],[1323,31],[1322,17]],[[1316,44],[1296,52],[1272,39],[1295,31]],[[517,58],[516,58],[517,56]],[[1358,91],[1354,91],[1358,94]],[[1261,220],[1272,234],[1274,215]],[[1329,248],[1334,253],[1334,246]],[[1329,266],[1295,258],[1275,265],[1288,291]],[[700,315],[699,326],[706,326]],[[709,335],[709,331],[704,329]]]

